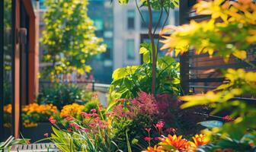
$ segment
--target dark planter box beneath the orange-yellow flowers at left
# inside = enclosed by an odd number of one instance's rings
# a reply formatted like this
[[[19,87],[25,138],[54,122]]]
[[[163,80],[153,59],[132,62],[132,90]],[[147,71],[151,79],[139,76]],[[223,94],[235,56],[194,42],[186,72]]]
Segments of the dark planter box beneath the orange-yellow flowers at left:
[[[53,133],[52,125],[50,122],[40,122],[38,123],[37,127],[30,127],[30,128],[22,128],[21,134],[24,138],[30,139],[31,143],[35,141],[39,141],[45,138],[43,135],[48,133],[49,135]],[[41,142],[50,142],[50,141],[41,141]]]

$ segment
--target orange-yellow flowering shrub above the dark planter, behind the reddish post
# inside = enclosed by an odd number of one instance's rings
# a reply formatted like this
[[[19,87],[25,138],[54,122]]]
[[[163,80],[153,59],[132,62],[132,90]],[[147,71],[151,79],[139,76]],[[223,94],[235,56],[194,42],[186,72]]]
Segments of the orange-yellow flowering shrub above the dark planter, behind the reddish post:
[[[11,104],[4,106],[5,119],[11,120]],[[47,122],[50,116],[58,112],[53,104],[39,105],[31,103],[27,106],[22,106],[22,121],[24,127],[35,127],[38,122]],[[9,119],[8,119],[9,118]],[[5,127],[10,127],[11,123],[6,121]]]

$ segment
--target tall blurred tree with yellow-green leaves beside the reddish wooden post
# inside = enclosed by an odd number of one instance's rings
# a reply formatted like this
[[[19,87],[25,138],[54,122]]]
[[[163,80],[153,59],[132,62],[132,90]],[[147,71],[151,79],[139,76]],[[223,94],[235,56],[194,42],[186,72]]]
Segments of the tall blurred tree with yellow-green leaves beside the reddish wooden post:
[[[56,74],[90,71],[86,60],[106,48],[94,34],[93,21],[87,14],[88,0],[48,0],[45,5],[41,42],[46,47],[43,61],[51,66],[45,69],[43,76],[54,78]]]

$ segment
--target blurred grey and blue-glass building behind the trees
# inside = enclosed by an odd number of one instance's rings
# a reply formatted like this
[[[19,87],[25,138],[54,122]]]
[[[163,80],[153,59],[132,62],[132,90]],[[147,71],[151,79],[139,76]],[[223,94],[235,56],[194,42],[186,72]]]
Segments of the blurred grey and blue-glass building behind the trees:
[[[35,0],[34,0],[35,1]],[[40,29],[43,29],[43,12],[45,0],[40,0]],[[91,74],[98,83],[110,84],[112,72],[127,65],[139,65],[142,61],[139,55],[140,43],[147,40],[149,16],[146,8],[142,10],[146,24],[142,22],[136,3],[120,6],[117,1],[89,0],[88,16],[94,21],[96,35],[104,39],[107,51],[94,56],[88,64],[91,65]],[[153,25],[158,23],[160,11],[153,12]],[[157,32],[165,23],[166,14],[163,14]],[[178,25],[178,9],[170,10],[166,25]],[[40,56],[43,55],[43,46],[40,46]],[[41,67],[44,64],[40,64]]]

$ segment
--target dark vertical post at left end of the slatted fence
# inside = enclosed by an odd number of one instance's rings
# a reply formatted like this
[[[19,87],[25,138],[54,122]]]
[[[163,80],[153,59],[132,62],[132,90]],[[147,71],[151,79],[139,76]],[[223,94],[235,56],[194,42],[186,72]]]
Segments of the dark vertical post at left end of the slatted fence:
[[[187,24],[189,22],[189,0],[180,1],[180,25]],[[189,93],[189,53],[185,52],[183,55],[180,55],[180,64],[181,64],[181,88],[183,94]]]

